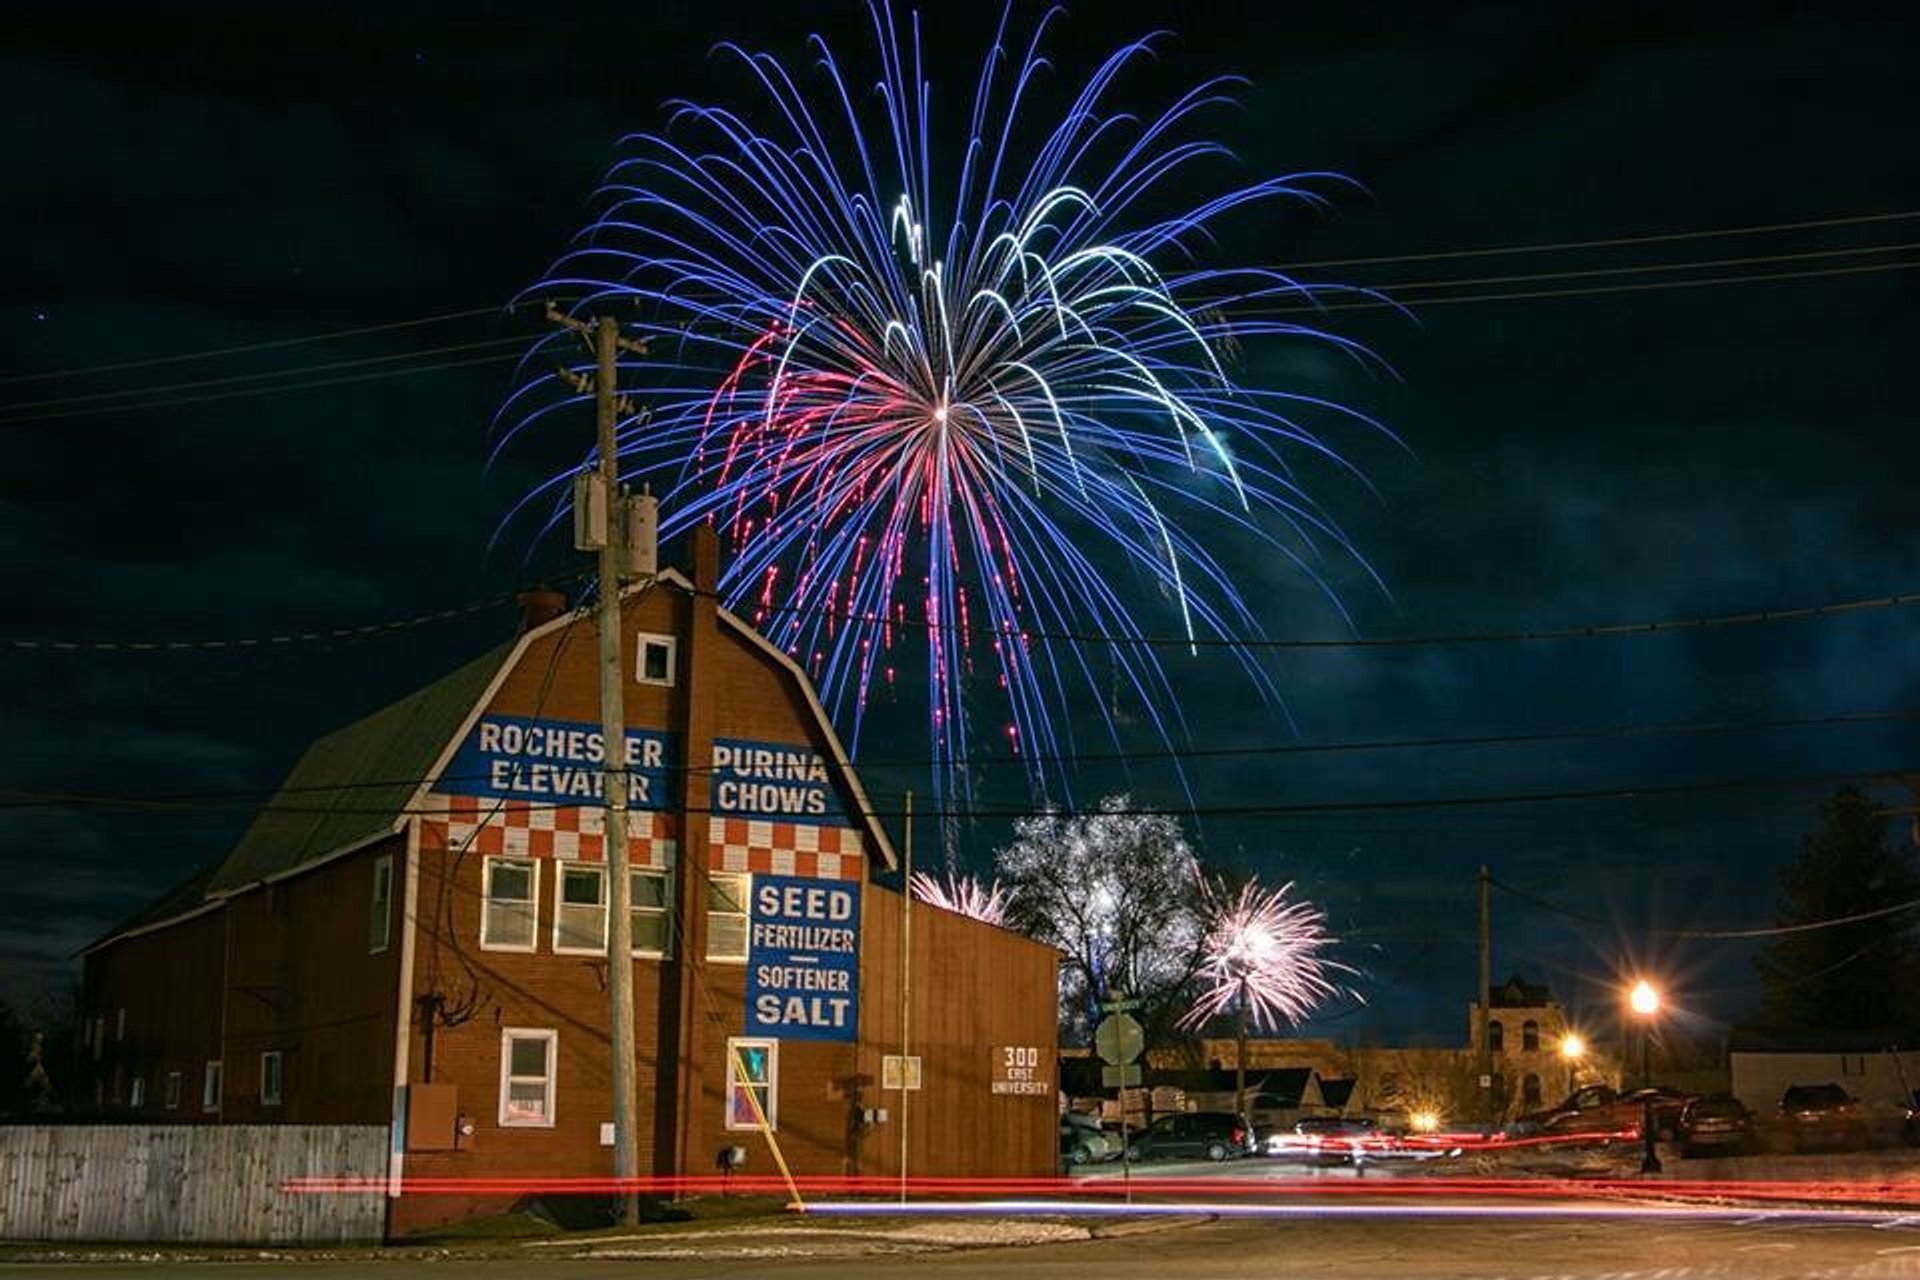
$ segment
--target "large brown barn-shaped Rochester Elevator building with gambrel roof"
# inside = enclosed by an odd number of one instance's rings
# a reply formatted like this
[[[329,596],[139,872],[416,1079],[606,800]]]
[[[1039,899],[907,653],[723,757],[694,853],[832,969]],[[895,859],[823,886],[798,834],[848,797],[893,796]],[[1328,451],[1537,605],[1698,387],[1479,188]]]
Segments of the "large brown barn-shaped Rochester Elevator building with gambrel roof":
[[[889,1176],[895,848],[691,551],[622,610],[641,1169],[772,1173],[756,1102],[795,1173]],[[227,858],[92,944],[102,1107],[392,1125],[390,1234],[507,1207],[407,1178],[612,1173],[595,656],[563,614],[313,743]],[[910,1171],[1050,1173],[1054,1088],[1020,1063],[1056,1061],[1054,952],[931,908],[912,952]]]

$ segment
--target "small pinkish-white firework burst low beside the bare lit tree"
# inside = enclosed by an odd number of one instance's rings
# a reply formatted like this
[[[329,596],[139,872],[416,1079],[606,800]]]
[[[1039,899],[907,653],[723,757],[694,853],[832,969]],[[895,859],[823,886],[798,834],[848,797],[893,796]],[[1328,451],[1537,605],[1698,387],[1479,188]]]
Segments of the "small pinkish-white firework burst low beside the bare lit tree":
[[[1311,902],[1288,900],[1292,889],[1252,881],[1233,898],[1208,890],[1202,992],[1181,1027],[1236,1009],[1261,1029],[1300,1025],[1340,990],[1334,975],[1354,971],[1323,954],[1332,946],[1327,917]]]

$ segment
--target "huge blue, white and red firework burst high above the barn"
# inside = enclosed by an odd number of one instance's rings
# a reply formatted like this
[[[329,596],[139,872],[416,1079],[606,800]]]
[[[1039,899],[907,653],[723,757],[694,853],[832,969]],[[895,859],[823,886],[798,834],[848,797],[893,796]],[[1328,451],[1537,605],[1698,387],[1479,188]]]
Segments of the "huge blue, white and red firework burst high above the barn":
[[[1294,464],[1342,464],[1306,418],[1377,424],[1227,368],[1254,340],[1371,365],[1277,311],[1336,286],[1200,257],[1223,215],[1319,205],[1342,178],[1196,200],[1202,161],[1227,152],[1194,117],[1231,83],[1137,115],[1117,86],[1152,38],[1043,113],[1058,10],[1025,35],[1002,13],[972,107],[941,119],[918,15],[870,15],[877,75],[818,36],[801,75],[718,46],[756,104],[676,102],[662,132],[628,138],[599,215],[528,296],[651,340],[622,357],[651,411],[620,428],[622,472],[662,491],[662,533],[722,532],[724,603],[795,654],[854,748],[904,656],[925,664],[939,800],[972,796],[964,766],[985,752],[1025,758],[1044,791],[1073,750],[1069,699],[1091,695],[1116,745],[1119,720],[1183,735],[1175,674],[1142,635],[1260,633],[1213,547],[1252,543],[1315,581],[1329,549],[1352,551]],[[578,399],[547,376],[557,359],[588,370],[566,344],[528,355],[495,457],[576,428]],[[568,478],[515,514],[563,524]]]

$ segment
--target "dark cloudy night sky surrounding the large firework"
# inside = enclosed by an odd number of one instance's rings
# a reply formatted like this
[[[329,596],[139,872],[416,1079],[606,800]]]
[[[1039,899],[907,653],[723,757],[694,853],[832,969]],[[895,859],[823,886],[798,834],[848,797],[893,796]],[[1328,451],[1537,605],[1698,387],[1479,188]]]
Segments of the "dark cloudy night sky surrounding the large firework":
[[[985,12],[929,19],[929,73],[952,117],[991,35]],[[707,59],[716,40],[801,63],[804,35],[820,29],[843,59],[868,52],[852,4],[340,13],[142,6],[10,19],[10,1000],[58,981],[73,950],[223,854],[255,793],[309,739],[509,637],[516,618],[493,604],[372,639],[250,651],[86,645],[355,628],[578,568],[566,547],[530,549],[520,533],[490,545],[513,499],[589,432],[582,418],[578,438],[488,468],[490,420],[513,386],[501,340],[540,332],[530,311],[499,307],[582,225],[622,132],[659,125],[674,96],[751,102]],[[1920,589],[1920,276],[1878,271],[1920,263],[1920,219],[1352,261],[1916,211],[1910,8],[1077,4],[1052,48],[1068,71],[1087,71],[1156,27],[1175,36],[1142,77],[1142,104],[1213,73],[1250,79],[1240,109],[1210,123],[1242,165],[1223,182],[1327,169],[1365,186],[1327,213],[1238,219],[1221,257],[1344,261],[1300,274],[1386,288],[1413,311],[1327,317],[1390,361],[1392,378],[1308,349],[1248,357],[1246,380],[1334,395],[1404,441],[1329,428],[1373,491],[1334,468],[1306,476],[1386,585],[1329,564],[1352,626],[1271,557],[1236,562],[1271,635],[1551,629]],[[1836,253],[1870,246],[1893,248]],[[1511,280],[1726,259],[1741,261]],[[1876,271],[1640,288],[1857,267]],[[1615,286],[1634,288],[1590,292]],[[1488,297],[1536,290],[1567,296]],[[1446,297],[1475,301],[1436,301]],[[422,355],[324,368],[403,353]],[[1271,656],[1284,708],[1260,706],[1219,654],[1167,662],[1190,725],[1181,745],[1530,735],[1914,712],[1916,628],[1908,606],[1680,635],[1292,651]],[[925,754],[910,718],[881,723],[889,731],[870,733],[862,758]],[[1607,984],[1649,963],[1670,977],[1686,1025],[1713,1032],[1757,996],[1749,950],[1644,931],[1766,923],[1772,873],[1828,789],[1766,779],[1916,768],[1916,748],[1920,723],[1891,720],[1208,758],[1190,764],[1190,791],[1148,760],[1125,773],[1089,766],[1073,785],[1077,798],[1131,785],[1142,802],[1231,810],[1738,781],[1538,804],[1210,814],[1190,827],[1210,860],[1298,881],[1350,938],[1342,954],[1363,969],[1356,986],[1369,1004],[1331,1009],[1317,1025],[1327,1034],[1465,1032],[1482,862],[1611,921],[1500,894],[1498,975],[1549,981],[1603,1031]],[[874,768],[868,783],[883,808],[925,785],[910,768]],[[1899,787],[1876,791],[1910,802]],[[198,798],[104,808],[40,804],[46,793]],[[966,829],[975,865],[1002,833]],[[922,835],[931,841],[931,827]]]

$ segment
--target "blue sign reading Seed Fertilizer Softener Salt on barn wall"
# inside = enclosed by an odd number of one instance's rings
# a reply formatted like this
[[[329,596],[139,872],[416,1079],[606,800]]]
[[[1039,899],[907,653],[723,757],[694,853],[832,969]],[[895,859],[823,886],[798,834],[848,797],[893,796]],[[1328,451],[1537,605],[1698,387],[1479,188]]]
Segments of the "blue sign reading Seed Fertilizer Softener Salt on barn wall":
[[[852,1040],[860,1007],[860,881],[755,875],[747,1034]]]

